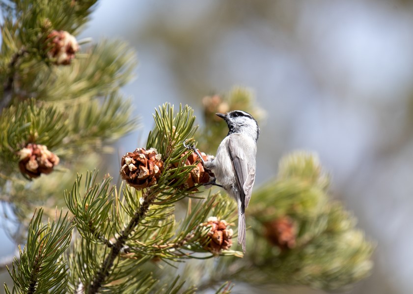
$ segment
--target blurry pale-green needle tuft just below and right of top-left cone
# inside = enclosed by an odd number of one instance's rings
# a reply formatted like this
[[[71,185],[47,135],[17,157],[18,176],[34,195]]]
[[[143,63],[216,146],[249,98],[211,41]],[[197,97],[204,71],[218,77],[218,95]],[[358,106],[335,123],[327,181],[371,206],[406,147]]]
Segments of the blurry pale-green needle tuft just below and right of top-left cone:
[[[101,40],[78,55],[79,59],[67,66],[43,65],[36,75],[28,77],[25,91],[61,107],[87,103],[130,82],[137,65],[135,52],[120,40]]]

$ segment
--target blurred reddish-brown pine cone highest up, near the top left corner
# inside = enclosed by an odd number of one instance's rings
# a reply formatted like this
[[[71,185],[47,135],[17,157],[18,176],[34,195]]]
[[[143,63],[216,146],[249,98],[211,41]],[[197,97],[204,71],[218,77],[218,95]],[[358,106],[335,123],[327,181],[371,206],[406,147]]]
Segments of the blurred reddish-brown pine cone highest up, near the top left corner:
[[[53,30],[48,36],[47,45],[49,58],[55,59],[55,64],[68,65],[79,51],[76,38],[64,30]]]

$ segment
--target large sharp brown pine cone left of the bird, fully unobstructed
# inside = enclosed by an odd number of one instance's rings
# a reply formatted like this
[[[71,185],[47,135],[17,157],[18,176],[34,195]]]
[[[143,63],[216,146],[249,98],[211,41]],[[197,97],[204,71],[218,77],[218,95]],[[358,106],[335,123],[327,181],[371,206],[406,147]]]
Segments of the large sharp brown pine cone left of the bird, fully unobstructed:
[[[164,170],[161,158],[155,148],[137,148],[122,157],[120,176],[135,189],[155,185]]]

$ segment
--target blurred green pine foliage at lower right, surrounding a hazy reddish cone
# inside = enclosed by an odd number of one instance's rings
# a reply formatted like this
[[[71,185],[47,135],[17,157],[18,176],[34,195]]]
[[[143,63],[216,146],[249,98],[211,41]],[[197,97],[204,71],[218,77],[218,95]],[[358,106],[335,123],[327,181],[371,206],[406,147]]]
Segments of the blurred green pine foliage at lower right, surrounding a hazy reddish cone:
[[[355,218],[329,200],[328,182],[314,154],[300,151],[281,159],[278,178],[256,190],[248,206],[251,250],[248,261],[238,262],[254,270],[240,270],[239,279],[337,290],[369,275],[374,246],[355,228]],[[296,231],[291,248],[269,237],[276,233],[268,224],[282,217],[291,219]]]

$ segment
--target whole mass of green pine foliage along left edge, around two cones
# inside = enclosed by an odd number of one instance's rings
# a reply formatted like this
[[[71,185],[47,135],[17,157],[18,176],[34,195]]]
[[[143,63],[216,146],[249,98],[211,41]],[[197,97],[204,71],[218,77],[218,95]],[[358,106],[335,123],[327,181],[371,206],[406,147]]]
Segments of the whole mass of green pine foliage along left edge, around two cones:
[[[139,126],[131,118],[131,102],[119,92],[137,64],[125,42],[84,46],[65,66],[47,57],[48,34],[65,30],[76,35],[95,3],[0,1],[0,201],[10,205],[7,211],[22,227],[36,206],[46,206],[44,213],[53,215],[49,207],[64,205],[62,192],[71,174],[76,175],[73,169],[95,168],[97,161],[90,160],[95,153],[112,151],[114,140]],[[28,143],[45,145],[59,156],[48,179],[23,180],[17,152]]]

